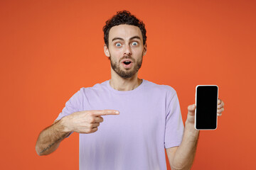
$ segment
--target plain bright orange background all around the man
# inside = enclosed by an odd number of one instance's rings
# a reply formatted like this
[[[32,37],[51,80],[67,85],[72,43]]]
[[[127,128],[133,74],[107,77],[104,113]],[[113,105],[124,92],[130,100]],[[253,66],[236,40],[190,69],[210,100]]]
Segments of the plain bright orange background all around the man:
[[[82,86],[110,79],[102,27],[127,9],[146,24],[139,77],[174,87],[183,122],[198,84],[225,111],[192,169],[255,169],[255,1],[0,1],[0,169],[78,169],[78,134],[39,157],[39,132]]]

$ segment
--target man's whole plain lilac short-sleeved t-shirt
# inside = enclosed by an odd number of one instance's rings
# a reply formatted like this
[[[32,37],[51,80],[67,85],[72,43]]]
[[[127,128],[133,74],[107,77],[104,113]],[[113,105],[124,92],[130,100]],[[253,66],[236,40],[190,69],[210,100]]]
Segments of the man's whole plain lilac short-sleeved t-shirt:
[[[166,169],[165,148],[181,144],[183,121],[176,91],[143,80],[132,91],[117,91],[110,81],[82,88],[57,120],[77,111],[113,109],[97,132],[80,134],[80,170]]]

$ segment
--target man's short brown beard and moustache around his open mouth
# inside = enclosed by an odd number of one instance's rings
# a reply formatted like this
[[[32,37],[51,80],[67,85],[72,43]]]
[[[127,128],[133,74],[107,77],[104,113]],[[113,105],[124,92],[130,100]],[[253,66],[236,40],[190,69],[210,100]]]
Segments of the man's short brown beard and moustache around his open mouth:
[[[137,60],[137,62],[135,62],[135,60],[129,56],[124,56],[119,60],[119,61],[121,61],[123,59],[132,60],[134,67],[131,70],[128,70],[128,69],[122,70],[122,68],[118,64],[119,62],[117,63],[114,60],[112,60],[111,55],[110,55],[110,63],[111,63],[112,69],[114,70],[114,72],[116,72],[119,75],[119,77],[128,79],[128,78],[133,77],[134,74],[136,74],[139,71],[139,69],[142,67],[142,58],[143,58],[143,55],[142,55],[142,57],[139,58],[139,60]]]

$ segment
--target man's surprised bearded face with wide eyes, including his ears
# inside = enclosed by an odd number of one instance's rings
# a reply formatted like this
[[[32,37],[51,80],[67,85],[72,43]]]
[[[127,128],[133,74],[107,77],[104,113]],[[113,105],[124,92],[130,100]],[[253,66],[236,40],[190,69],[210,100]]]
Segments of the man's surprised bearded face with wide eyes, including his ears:
[[[137,26],[119,25],[110,29],[109,47],[104,46],[110,57],[112,71],[127,79],[137,74],[146,54],[142,32]]]

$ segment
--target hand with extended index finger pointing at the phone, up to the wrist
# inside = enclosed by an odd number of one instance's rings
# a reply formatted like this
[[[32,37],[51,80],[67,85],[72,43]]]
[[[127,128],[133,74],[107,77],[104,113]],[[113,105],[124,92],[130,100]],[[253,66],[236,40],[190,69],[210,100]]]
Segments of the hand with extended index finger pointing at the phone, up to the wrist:
[[[103,122],[102,115],[119,115],[119,111],[80,111],[67,115],[63,119],[66,132],[92,133]]]

